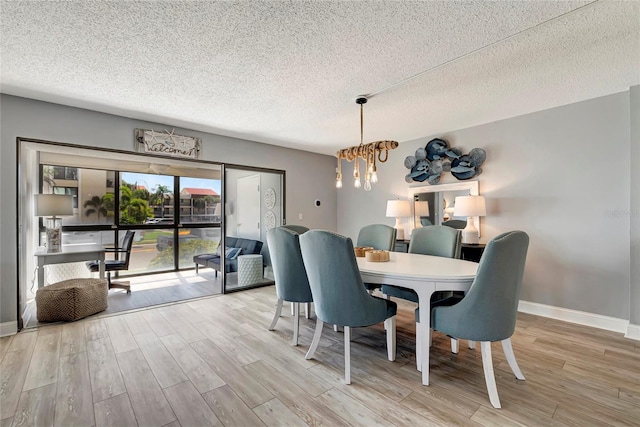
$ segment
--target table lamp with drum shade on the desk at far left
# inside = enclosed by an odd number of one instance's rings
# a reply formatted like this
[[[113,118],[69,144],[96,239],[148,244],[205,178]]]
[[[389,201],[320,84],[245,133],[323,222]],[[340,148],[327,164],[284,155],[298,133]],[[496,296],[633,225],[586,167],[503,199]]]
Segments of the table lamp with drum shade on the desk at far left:
[[[73,215],[73,196],[64,194],[36,194],[35,216],[45,217],[47,252],[62,248],[62,218]]]

